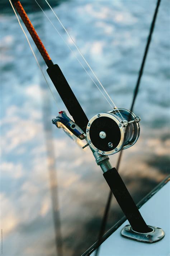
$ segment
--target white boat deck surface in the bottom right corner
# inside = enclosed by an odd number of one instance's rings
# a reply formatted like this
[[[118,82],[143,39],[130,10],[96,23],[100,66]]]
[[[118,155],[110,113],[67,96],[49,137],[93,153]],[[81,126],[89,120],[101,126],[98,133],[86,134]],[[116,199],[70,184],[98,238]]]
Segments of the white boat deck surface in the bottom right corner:
[[[123,238],[120,233],[128,224],[125,221],[100,246],[98,256],[166,256],[170,255],[170,182],[164,185],[141,208],[140,212],[148,225],[162,228],[165,237],[153,244]],[[95,251],[91,254],[95,256]]]

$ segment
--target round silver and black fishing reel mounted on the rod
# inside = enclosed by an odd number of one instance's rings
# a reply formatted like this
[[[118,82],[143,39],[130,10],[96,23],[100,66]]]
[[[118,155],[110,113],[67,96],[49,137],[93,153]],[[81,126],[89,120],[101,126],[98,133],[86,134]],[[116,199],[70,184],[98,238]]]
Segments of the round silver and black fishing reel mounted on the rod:
[[[136,143],[140,134],[139,121],[140,117],[123,108],[96,114],[86,128],[87,142],[99,154],[115,154]]]

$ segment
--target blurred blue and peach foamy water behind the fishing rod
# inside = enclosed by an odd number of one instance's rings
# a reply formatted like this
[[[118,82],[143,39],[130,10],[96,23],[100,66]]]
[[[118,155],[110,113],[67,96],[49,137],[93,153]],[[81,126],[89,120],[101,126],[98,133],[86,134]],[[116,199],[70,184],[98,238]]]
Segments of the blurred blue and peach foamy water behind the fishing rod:
[[[22,3],[88,118],[109,111],[108,103],[37,4]],[[38,3],[79,56],[46,2]],[[128,109],[156,0],[49,3],[115,104]],[[1,1],[0,7],[3,255],[48,256],[57,251],[60,255],[61,246],[63,255],[81,255],[98,237],[109,188],[90,150],[82,150],[52,125],[58,113],[56,104],[9,2]],[[169,174],[169,12],[170,2],[162,0],[134,107],[134,113],[141,116],[141,136],[123,152],[119,169],[136,203]],[[113,166],[117,158],[118,154],[110,157]],[[122,216],[113,198],[106,230]],[[147,222],[147,216],[144,219]]]

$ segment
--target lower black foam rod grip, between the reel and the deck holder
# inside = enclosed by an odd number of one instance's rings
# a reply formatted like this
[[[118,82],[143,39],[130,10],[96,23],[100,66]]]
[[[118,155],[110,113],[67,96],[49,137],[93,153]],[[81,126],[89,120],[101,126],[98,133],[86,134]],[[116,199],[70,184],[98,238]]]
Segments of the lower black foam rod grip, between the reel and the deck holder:
[[[150,232],[150,228],[148,228],[145,220],[143,220],[140,211],[129,194],[118,171],[115,168],[112,168],[109,171],[104,172],[103,176],[112,190],[119,206],[122,208],[122,211],[131,224],[132,229],[139,233]]]

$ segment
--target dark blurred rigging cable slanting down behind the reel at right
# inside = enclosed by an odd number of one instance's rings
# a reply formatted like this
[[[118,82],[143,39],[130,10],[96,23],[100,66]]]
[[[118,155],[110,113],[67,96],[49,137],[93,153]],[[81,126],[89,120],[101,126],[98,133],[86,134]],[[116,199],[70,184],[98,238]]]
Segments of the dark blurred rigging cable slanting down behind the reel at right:
[[[154,16],[152,18],[152,23],[151,23],[151,26],[150,26],[149,36],[148,36],[148,39],[147,39],[147,44],[146,44],[145,51],[144,51],[144,54],[143,54],[142,63],[141,63],[140,71],[139,71],[139,74],[138,74],[137,83],[136,83],[136,86],[135,86],[135,89],[134,89],[134,94],[133,94],[133,99],[132,99],[132,104],[131,104],[131,111],[133,111],[134,103],[135,103],[135,100],[136,100],[136,97],[137,97],[137,94],[138,94],[140,81],[141,81],[141,77],[142,77],[142,74],[143,74],[143,69],[145,67],[145,61],[146,61],[148,49],[149,49],[149,46],[150,46],[150,42],[151,42],[151,39],[152,39],[152,33],[154,31],[156,17],[157,17],[160,2],[161,2],[161,0],[157,0]],[[118,158],[117,167],[116,167],[117,170],[119,169],[119,165],[120,165],[120,162],[121,162],[121,159],[122,159],[122,153],[123,153],[123,151],[121,151],[119,153],[119,158]],[[99,246],[101,244],[101,238],[103,237],[104,232],[105,232],[105,227],[106,227],[106,224],[107,224],[107,219],[108,219],[110,204],[111,204],[111,200],[112,200],[112,195],[113,195],[113,193],[110,190],[108,200],[107,200],[107,204],[105,206],[104,215],[103,215],[103,218],[102,218],[102,221],[101,221],[101,226],[100,226],[100,231],[99,231],[99,236],[98,236],[98,243],[96,245],[97,248],[96,248],[95,256],[98,256],[98,254],[99,254],[99,250],[100,250]]]

